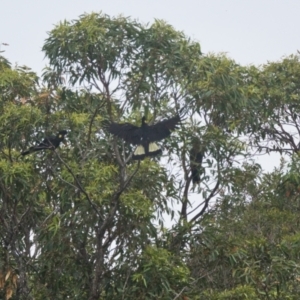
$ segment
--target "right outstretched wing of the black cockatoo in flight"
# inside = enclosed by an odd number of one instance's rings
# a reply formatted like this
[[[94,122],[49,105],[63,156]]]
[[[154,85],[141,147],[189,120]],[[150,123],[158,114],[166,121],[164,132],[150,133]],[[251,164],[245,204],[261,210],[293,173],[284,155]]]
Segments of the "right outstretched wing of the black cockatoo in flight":
[[[180,122],[180,116],[177,115],[167,120],[163,120],[148,127],[147,138],[149,142],[163,140],[168,137],[173,130],[177,128]]]

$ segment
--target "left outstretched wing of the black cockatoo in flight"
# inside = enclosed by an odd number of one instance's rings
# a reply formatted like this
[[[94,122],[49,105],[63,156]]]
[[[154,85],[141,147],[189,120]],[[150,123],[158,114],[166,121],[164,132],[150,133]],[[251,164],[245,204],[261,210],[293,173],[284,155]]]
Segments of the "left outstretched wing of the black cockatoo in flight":
[[[138,145],[141,143],[142,132],[141,128],[130,123],[118,124],[108,123],[105,125],[108,132],[122,138],[125,142]]]

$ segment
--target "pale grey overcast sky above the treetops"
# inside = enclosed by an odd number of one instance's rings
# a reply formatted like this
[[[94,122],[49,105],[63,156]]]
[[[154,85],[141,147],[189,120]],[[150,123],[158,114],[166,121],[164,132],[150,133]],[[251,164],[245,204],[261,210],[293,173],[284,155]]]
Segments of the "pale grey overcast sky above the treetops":
[[[299,0],[1,0],[0,43],[4,56],[41,74],[47,32],[87,12],[122,14],[142,23],[163,19],[201,44],[241,64],[264,64],[300,50]],[[279,157],[276,159],[279,163]],[[271,170],[274,158],[259,162]]]

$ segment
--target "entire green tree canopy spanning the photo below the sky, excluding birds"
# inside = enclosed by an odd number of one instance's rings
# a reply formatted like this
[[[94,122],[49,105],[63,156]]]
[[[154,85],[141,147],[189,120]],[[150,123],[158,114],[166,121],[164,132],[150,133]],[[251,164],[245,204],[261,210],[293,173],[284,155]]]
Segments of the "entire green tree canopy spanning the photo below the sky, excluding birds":
[[[43,51],[41,78],[0,56],[0,298],[298,299],[298,54],[242,66],[103,13],[55,25]],[[104,126],[179,112],[138,162]],[[254,156],[272,152],[266,173]]]

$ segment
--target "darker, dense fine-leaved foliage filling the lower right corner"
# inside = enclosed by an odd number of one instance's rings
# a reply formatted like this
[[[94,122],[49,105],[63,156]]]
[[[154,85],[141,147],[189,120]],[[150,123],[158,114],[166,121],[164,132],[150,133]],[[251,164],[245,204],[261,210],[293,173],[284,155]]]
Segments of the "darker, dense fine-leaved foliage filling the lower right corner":
[[[272,185],[268,182],[270,175]],[[245,182],[242,194],[241,186],[232,189],[235,196],[220,199],[219,212],[207,214],[201,222],[202,232],[194,236],[194,253],[189,264],[194,278],[204,277],[200,287],[195,286],[200,294],[209,287],[214,292],[205,291],[208,299],[297,298],[299,204],[296,197],[285,198],[284,204],[279,202],[280,180],[276,173],[266,174],[261,183],[249,190]],[[209,274],[207,279],[202,275],[205,272]],[[242,298],[234,298],[239,296],[236,289],[240,285],[249,292],[241,294]],[[225,289],[228,291],[224,292]]]

